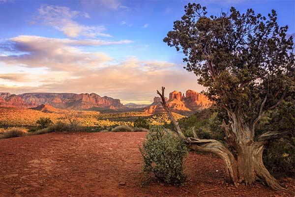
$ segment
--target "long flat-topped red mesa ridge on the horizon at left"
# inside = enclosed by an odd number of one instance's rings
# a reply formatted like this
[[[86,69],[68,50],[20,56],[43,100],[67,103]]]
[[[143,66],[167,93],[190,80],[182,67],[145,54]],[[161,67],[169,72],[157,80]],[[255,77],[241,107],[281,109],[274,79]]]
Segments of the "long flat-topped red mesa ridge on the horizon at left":
[[[0,93],[0,106],[14,106],[32,108],[42,104],[49,104],[59,109],[85,110],[90,108],[118,109],[123,108],[119,99],[100,97],[95,93],[24,93],[12,95]]]

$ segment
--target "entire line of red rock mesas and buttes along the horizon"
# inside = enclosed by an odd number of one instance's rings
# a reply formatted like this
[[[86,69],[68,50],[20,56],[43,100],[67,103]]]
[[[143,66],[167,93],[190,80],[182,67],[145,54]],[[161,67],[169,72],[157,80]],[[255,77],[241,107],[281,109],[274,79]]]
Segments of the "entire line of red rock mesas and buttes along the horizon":
[[[14,95],[10,93],[0,93],[0,106],[35,108],[41,111],[56,111],[58,109],[72,110],[120,110],[120,111],[144,111],[155,114],[163,112],[160,103],[161,98],[155,97],[151,104],[128,103],[123,105],[120,99],[111,97],[100,97],[95,93],[24,93]],[[181,92],[173,91],[166,98],[168,107],[181,114],[188,114],[196,110],[205,109],[211,106],[212,102],[201,93],[187,90],[185,95]]]

